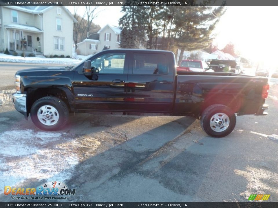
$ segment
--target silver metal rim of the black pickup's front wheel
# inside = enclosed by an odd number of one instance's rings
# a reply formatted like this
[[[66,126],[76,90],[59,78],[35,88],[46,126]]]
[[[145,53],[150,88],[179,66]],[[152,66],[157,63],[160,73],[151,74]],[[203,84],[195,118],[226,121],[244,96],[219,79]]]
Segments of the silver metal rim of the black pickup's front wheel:
[[[53,126],[59,120],[58,110],[51,105],[43,105],[37,112],[39,121],[46,126]]]

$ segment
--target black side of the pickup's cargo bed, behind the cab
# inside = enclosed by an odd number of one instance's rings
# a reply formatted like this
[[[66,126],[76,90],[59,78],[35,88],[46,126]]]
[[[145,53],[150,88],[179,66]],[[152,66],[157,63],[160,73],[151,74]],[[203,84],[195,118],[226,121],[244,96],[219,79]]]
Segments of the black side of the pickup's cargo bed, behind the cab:
[[[222,72],[177,72],[174,112],[202,112],[223,104],[239,115],[259,114],[267,78]],[[185,108],[186,106],[186,108]]]

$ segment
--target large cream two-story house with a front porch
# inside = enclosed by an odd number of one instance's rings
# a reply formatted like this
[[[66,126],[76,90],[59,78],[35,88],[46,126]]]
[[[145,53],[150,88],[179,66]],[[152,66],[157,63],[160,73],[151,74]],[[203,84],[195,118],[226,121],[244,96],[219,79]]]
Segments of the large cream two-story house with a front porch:
[[[2,6],[0,18],[0,50],[72,55],[77,21],[64,6]]]

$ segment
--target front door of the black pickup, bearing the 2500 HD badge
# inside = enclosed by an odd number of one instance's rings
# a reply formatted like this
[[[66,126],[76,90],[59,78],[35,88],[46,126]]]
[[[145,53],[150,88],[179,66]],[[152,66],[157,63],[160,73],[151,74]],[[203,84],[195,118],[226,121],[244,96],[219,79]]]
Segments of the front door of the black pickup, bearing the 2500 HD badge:
[[[73,81],[77,109],[121,111],[126,105],[127,57],[126,53],[103,51],[91,60],[92,68],[99,70],[92,78],[76,69]]]

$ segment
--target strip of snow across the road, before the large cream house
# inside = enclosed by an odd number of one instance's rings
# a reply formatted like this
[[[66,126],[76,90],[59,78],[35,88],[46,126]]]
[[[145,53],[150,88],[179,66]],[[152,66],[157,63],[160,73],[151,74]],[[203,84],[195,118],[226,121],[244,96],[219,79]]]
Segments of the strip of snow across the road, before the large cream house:
[[[87,59],[91,55],[83,56],[76,55],[77,59],[72,58],[43,58],[43,57],[21,57],[6,55],[0,53],[0,62],[13,62],[13,63],[28,63],[28,64],[65,64],[65,65],[76,65]]]

